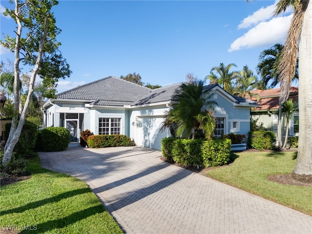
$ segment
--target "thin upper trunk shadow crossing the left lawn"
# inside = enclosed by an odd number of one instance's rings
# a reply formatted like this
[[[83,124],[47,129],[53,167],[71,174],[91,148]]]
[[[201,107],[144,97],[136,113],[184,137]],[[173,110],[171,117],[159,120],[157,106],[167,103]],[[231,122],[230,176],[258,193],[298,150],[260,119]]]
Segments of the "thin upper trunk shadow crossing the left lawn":
[[[48,204],[48,203],[58,202],[62,199],[72,197],[72,196],[76,196],[78,194],[87,193],[87,192],[90,192],[89,188],[64,192],[64,193],[61,193],[61,194],[54,196],[54,197],[49,197],[49,198],[42,199],[40,201],[28,203],[25,206],[17,207],[17,208],[6,210],[6,211],[1,211],[1,215],[9,214],[9,213],[22,213],[22,212],[30,210],[30,209],[36,209],[36,208],[43,206],[45,204]]]

